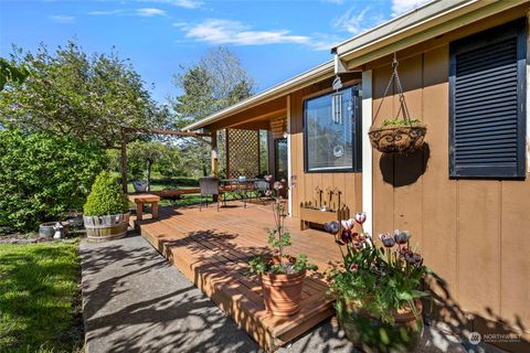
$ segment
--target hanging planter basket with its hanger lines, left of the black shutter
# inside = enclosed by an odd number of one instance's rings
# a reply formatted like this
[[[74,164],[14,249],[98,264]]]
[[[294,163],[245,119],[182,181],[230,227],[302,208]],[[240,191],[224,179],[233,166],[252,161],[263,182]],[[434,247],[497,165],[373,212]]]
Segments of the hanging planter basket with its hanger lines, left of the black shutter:
[[[392,76],[389,85],[384,90],[383,98],[379,104],[378,110],[373,120],[379,116],[384,98],[388,96],[390,87],[395,86],[400,97],[400,109],[393,119],[384,120],[382,126],[373,126],[370,128],[368,136],[372,147],[380,152],[388,154],[404,154],[422,148],[427,127],[421,124],[420,120],[411,119],[409,108],[403,94],[403,86],[401,85],[400,75],[398,74],[398,60],[394,54],[392,62]],[[400,115],[403,119],[400,120]]]

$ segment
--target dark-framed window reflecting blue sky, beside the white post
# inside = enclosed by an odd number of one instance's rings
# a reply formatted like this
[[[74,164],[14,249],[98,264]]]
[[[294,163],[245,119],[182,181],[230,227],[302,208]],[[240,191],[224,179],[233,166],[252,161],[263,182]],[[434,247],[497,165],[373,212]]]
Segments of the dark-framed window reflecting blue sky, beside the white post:
[[[306,172],[360,171],[360,87],[304,104]]]

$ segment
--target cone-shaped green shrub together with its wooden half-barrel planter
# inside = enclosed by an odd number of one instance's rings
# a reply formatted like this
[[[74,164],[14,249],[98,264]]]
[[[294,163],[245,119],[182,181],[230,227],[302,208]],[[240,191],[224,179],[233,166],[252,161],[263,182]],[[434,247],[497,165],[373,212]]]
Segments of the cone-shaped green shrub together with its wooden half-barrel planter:
[[[84,205],[86,236],[102,242],[123,238],[129,225],[129,205],[116,178],[103,171],[97,175]]]

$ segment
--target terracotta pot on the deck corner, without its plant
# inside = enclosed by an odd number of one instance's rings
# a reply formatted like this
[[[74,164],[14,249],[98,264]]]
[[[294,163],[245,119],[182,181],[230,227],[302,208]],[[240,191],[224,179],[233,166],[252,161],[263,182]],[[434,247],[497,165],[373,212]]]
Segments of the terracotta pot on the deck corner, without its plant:
[[[306,271],[300,274],[263,274],[261,276],[265,308],[273,315],[290,317],[300,310]]]

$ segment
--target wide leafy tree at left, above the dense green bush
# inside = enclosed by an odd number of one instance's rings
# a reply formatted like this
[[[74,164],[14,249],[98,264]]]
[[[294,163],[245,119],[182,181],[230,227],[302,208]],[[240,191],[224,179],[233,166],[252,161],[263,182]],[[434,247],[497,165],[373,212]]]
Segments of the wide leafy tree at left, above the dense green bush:
[[[14,47],[12,61],[29,67],[24,84],[0,93],[0,124],[26,130],[47,130],[116,148],[121,127],[162,127],[160,109],[129,61],[110,54],[87,55],[75,42],[51,53]]]

